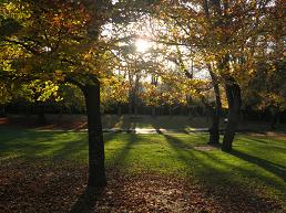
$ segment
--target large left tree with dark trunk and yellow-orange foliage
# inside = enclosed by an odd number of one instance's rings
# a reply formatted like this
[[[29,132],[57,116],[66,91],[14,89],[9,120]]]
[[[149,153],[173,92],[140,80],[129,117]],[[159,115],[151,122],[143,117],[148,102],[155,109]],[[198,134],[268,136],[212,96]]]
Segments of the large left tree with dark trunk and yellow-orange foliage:
[[[104,143],[100,116],[100,85],[112,72],[114,24],[142,15],[144,1],[19,1],[1,2],[8,33],[1,49],[19,52],[6,60],[4,78],[52,81],[76,85],[84,95],[89,128],[89,185],[105,185]],[[134,9],[134,15],[131,11]],[[129,15],[126,15],[126,13]],[[111,31],[111,32],[109,32]],[[109,32],[109,33],[108,33]]]

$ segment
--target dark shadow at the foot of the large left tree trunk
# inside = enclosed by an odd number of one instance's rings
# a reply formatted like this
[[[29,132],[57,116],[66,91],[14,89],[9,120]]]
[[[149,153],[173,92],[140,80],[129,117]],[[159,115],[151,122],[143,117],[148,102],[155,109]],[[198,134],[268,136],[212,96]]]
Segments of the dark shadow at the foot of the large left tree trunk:
[[[70,213],[93,213],[96,211],[96,202],[104,194],[104,188],[89,188],[83,191],[78,201],[71,206]]]

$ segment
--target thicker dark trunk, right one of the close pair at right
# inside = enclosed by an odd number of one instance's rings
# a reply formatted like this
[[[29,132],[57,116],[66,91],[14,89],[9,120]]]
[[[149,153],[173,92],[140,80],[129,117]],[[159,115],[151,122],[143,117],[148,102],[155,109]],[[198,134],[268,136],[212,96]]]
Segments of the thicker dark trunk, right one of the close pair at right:
[[[239,121],[239,110],[242,100],[241,87],[238,84],[235,83],[233,78],[231,78],[231,81],[226,83],[225,90],[228,103],[228,116],[222,150],[228,152],[232,150],[236,127]]]

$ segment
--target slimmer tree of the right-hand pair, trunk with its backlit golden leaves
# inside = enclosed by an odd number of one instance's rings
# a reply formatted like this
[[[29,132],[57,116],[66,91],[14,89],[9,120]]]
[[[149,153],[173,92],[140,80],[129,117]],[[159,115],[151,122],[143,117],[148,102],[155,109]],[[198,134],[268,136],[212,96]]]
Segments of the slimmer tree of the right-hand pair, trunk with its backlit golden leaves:
[[[185,74],[190,81],[193,78],[194,64],[201,70],[207,70],[212,79],[215,93],[215,105],[207,104],[205,107],[213,108],[212,127],[210,127],[210,143],[218,143],[219,140],[219,115],[221,115],[221,92],[219,92],[219,77],[216,73],[216,63],[213,63],[212,44],[208,44],[207,35],[205,34],[206,22],[204,18],[204,10],[201,10],[202,2],[187,3],[184,1],[175,1],[175,7],[168,2],[164,2],[164,12],[157,15],[159,26],[162,31],[156,33],[155,40],[159,43],[171,46],[171,55],[168,60],[174,62],[181,72]],[[163,15],[162,15],[163,13]],[[164,24],[165,23],[165,24]],[[164,33],[166,32],[166,33]],[[175,52],[172,54],[172,49],[175,46]],[[170,52],[170,51],[168,51]],[[192,67],[188,71],[186,63],[192,62]],[[197,89],[200,90],[200,88]],[[198,95],[200,96],[200,95]],[[188,96],[191,97],[191,96]],[[188,98],[190,99],[190,98]],[[191,99],[190,99],[191,100]]]

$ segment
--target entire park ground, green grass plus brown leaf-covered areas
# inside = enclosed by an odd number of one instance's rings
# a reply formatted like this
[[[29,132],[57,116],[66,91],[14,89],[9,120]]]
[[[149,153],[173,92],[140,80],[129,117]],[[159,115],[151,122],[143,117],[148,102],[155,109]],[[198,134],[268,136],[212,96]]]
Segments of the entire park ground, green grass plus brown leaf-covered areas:
[[[286,135],[266,125],[245,125],[256,131],[238,134],[231,153],[206,146],[205,132],[106,132],[109,184],[95,190],[86,189],[88,135],[79,131],[86,120],[0,120],[0,213],[286,211]],[[103,126],[206,127],[194,120],[108,116]]]

